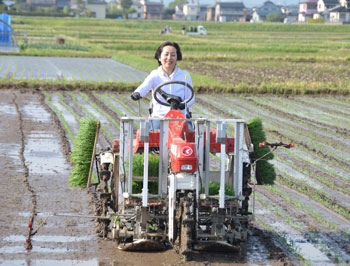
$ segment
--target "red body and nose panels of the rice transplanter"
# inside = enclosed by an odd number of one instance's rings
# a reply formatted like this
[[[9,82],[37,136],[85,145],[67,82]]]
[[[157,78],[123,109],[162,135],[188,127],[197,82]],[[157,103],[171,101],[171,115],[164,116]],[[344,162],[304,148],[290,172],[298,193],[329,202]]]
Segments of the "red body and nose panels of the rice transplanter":
[[[170,110],[166,118],[185,119],[179,110]],[[160,131],[149,132],[149,147],[159,148]],[[234,151],[234,138],[226,138],[226,152]],[[204,134],[206,143],[206,134]],[[113,143],[113,146],[115,146]],[[119,144],[119,143],[118,143]],[[119,146],[119,145],[118,145]],[[142,152],[144,142],[140,141],[140,131],[133,140],[133,152]],[[168,147],[170,149],[170,165],[173,172],[193,173],[198,167],[198,156],[195,145],[195,131],[188,128],[186,121],[169,121]],[[221,152],[221,144],[216,142],[216,130],[210,130],[210,152]]]

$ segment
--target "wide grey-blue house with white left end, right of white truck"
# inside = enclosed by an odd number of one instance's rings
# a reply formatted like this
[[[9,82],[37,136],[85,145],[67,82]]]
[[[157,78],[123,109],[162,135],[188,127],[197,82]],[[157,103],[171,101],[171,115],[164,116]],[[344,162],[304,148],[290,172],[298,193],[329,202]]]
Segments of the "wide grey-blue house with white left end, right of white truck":
[[[218,2],[215,5],[215,21],[239,21],[244,15],[242,2]]]

